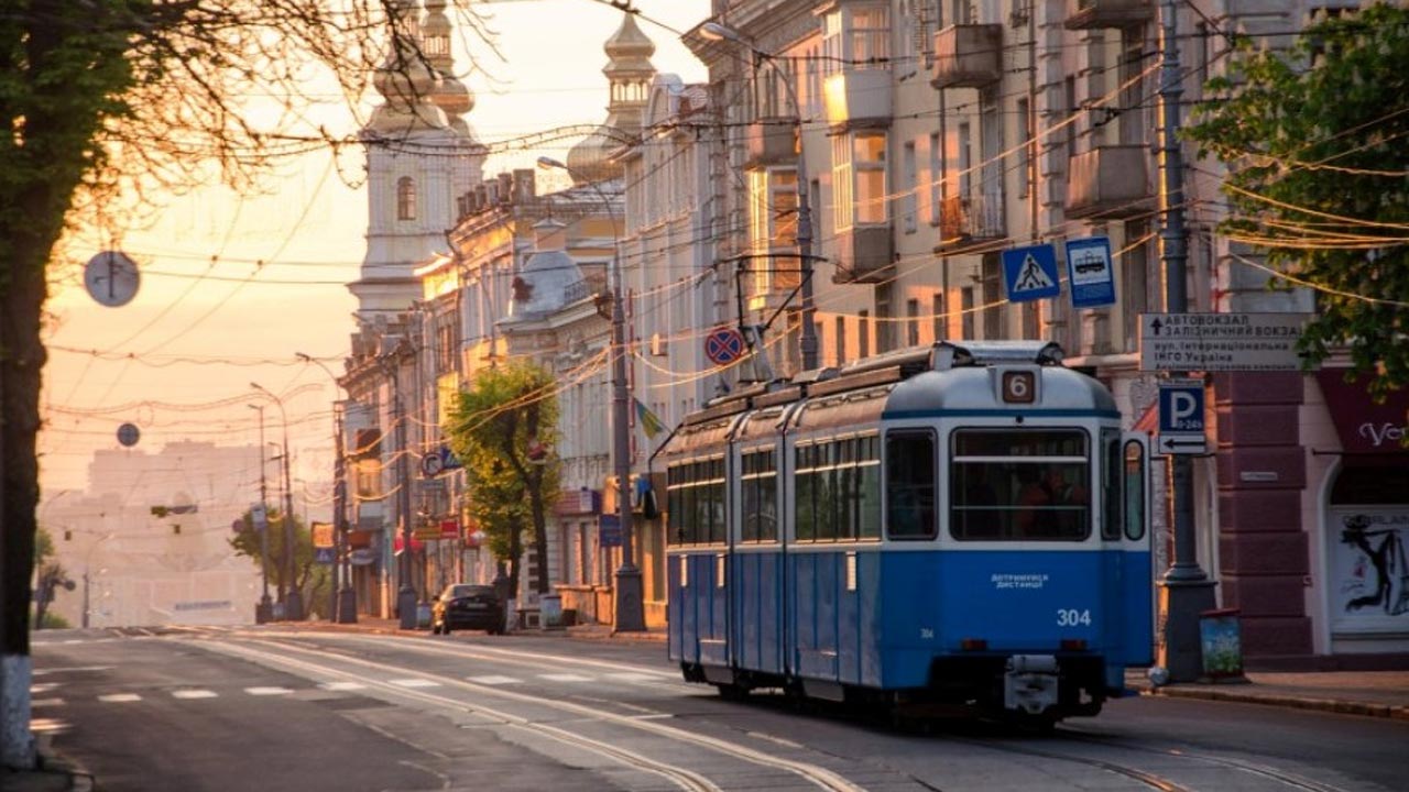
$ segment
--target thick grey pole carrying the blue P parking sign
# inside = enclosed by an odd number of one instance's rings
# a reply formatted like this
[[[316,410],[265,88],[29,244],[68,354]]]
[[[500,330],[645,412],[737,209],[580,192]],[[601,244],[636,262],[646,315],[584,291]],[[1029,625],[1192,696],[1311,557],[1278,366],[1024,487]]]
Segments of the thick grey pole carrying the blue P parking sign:
[[[1184,154],[1179,149],[1178,17],[1175,0],[1160,3],[1160,259],[1164,264],[1165,309],[1189,310],[1185,286],[1188,234],[1184,227]],[[1186,376],[1188,372],[1169,372]],[[1174,489],[1174,564],[1160,581],[1160,612],[1164,616],[1157,662],[1171,682],[1193,682],[1203,675],[1199,644],[1199,614],[1215,607],[1213,581],[1199,568],[1193,534],[1193,461],[1184,454],[1169,457]]]

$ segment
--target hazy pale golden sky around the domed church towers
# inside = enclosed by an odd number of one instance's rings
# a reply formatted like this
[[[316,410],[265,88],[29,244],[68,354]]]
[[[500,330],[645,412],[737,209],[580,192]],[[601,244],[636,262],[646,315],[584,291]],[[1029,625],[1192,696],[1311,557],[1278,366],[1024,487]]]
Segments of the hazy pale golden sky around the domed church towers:
[[[676,31],[709,13],[707,0],[635,0],[635,6]],[[620,24],[620,11],[593,0],[480,8],[493,17],[504,56],[500,62],[472,42],[475,59],[493,78],[476,72],[468,79],[476,104],[466,118],[482,142],[606,118],[602,45]],[[657,45],[657,70],[703,80],[703,66],[678,34],[644,17],[638,24]],[[468,65],[458,54],[457,66]],[[330,130],[354,131],[351,116],[333,97],[328,101],[316,110]],[[561,159],[572,142],[492,156],[485,175],[528,166],[541,154]],[[93,451],[120,448],[116,431],[124,421],[141,428],[137,448],[147,452],[176,440],[258,443],[258,413],[245,404],[265,402],[251,382],[285,397],[294,478],[331,476],[334,386],[294,354],[323,358],[341,371],[356,307],[344,283],[356,279],[366,233],[366,196],[344,179],[359,180],[362,163],[359,152],[338,163],[320,152],[285,166],[272,196],[241,200],[209,189],[168,197],[154,227],[121,240],[142,269],[141,290],[124,307],[100,306],[83,290],[82,264],[104,241],[87,234],[70,241],[75,261],[51,275],[45,331],[48,424],[39,438],[45,500],[61,489],[83,488]],[[275,443],[279,410],[271,403],[263,414],[266,440]]]

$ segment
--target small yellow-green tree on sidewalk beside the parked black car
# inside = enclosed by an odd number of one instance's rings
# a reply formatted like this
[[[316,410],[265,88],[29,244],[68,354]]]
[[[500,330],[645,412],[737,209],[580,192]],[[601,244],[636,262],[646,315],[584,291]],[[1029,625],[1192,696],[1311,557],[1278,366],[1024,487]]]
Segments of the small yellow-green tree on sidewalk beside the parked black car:
[[[455,397],[444,428],[465,466],[469,517],[490,552],[509,561],[510,592],[519,590],[523,537],[538,548],[538,593],[548,593],[548,509],[558,495],[557,380],[530,362],[510,362],[475,375]]]

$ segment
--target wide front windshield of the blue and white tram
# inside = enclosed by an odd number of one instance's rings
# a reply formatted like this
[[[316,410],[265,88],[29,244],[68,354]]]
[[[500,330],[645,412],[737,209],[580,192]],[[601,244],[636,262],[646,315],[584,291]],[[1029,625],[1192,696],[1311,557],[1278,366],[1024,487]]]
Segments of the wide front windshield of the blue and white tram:
[[[1081,541],[1091,534],[1085,431],[957,430],[950,461],[955,540]]]

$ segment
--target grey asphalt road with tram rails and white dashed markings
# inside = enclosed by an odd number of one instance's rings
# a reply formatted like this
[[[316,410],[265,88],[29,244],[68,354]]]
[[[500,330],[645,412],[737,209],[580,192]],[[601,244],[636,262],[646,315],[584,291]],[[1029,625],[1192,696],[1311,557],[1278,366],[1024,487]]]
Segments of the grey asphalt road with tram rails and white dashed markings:
[[[99,789],[1388,791],[1409,723],[1178,699],[1043,736],[726,702],[658,644],[245,630],[35,637],[34,714]]]

